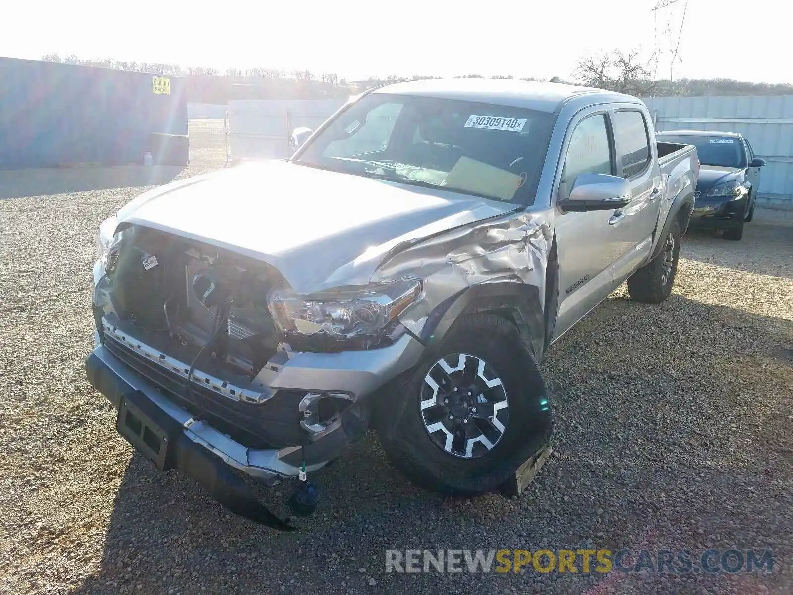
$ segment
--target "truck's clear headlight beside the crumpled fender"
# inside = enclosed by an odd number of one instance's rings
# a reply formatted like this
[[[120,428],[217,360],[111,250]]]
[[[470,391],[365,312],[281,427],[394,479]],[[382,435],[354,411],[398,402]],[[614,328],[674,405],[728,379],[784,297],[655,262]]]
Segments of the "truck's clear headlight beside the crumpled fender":
[[[323,333],[337,339],[377,336],[421,294],[421,282],[404,278],[364,288],[339,287],[310,296],[270,294],[270,313],[282,332]]]

